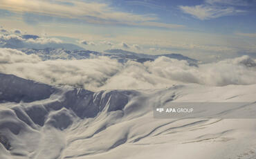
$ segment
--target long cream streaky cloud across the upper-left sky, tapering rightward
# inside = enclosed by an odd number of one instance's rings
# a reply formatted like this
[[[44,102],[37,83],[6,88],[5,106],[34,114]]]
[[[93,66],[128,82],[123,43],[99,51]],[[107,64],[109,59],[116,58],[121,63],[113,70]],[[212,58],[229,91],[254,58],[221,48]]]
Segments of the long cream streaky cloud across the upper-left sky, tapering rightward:
[[[0,9],[9,10],[25,15],[25,20],[30,24],[36,24],[38,17],[57,17],[61,19],[80,19],[90,24],[111,24],[111,25],[129,25],[129,26],[154,26],[165,28],[181,28],[182,25],[163,24],[153,22],[158,19],[156,15],[138,15],[130,12],[121,12],[114,10],[107,3],[86,2],[86,1],[67,1],[62,0],[57,3],[51,0],[22,0],[10,1],[2,0]],[[69,3],[69,5],[66,5]],[[50,18],[51,20],[51,18]]]

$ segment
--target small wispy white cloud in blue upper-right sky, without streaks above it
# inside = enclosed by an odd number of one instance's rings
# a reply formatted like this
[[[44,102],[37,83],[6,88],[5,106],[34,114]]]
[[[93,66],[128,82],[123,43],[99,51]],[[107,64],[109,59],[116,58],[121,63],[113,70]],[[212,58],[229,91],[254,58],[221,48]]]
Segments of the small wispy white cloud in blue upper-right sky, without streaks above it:
[[[223,17],[228,15],[235,15],[237,13],[244,12],[243,10],[237,10],[233,7],[218,7],[218,6],[179,6],[179,8],[193,17],[201,20],[213,19],[217,17]]]

